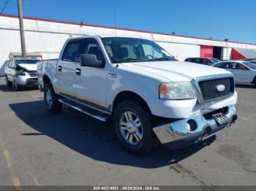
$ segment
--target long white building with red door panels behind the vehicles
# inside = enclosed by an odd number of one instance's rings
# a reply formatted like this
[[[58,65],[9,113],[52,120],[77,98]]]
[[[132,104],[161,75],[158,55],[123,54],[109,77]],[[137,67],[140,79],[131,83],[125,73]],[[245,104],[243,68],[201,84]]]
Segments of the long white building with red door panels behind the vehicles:
[[[60,20],[24,17],[26,51],[37,52],[42,59],[58,58],[61,47],[70,36],[129,36],[150,39],[165,48],[177,60],[188,57],[214,57],[222,60],[256,58],[256,44],[152,33],[127,28],[113,28]],[[20,52],[17,15],[0,15],[0,75],[10,52]]]

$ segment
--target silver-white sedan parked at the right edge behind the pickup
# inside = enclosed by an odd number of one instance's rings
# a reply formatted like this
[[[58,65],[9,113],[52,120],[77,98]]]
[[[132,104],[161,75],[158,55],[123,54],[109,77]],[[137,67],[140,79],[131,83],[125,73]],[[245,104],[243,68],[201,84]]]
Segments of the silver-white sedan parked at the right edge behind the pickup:
[[[215,63],[217,68],[233,73],[237,84],[252,84],[256,86],[256,64],[249,61],[224,61]]]

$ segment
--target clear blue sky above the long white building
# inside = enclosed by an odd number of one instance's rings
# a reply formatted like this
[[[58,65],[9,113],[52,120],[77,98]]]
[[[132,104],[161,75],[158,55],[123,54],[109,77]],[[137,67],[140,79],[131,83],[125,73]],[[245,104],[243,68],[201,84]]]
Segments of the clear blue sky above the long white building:
[[[0,12],[18,14],[16,0]],[[23,15],[256,44],[256,0],[22,0]]]

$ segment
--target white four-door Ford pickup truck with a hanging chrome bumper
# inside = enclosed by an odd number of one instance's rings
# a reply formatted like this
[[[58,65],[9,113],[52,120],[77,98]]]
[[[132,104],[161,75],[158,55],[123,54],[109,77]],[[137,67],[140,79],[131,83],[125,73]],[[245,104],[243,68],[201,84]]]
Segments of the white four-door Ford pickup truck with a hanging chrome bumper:
[[[194,144],[237,119],[233,74],[176,61],[146,39],[68,39],[59,59],[37,65],[50,112],[62,104],[113,122],[118,141],[143,155],[156,141],[170,149]]]

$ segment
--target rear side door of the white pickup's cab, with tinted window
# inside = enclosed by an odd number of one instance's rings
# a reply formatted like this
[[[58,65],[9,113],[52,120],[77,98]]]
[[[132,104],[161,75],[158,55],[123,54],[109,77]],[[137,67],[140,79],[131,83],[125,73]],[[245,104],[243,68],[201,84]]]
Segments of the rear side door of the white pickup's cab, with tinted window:
[[[58,92],[68,98],[75,99],[75,69],[78,64],[78,50],[80,39],[70,40],[57,63],[57,88]]]

